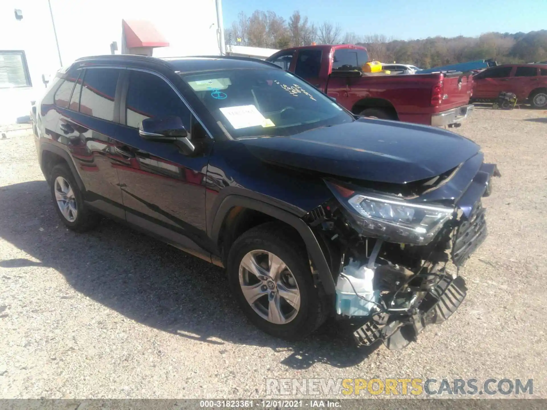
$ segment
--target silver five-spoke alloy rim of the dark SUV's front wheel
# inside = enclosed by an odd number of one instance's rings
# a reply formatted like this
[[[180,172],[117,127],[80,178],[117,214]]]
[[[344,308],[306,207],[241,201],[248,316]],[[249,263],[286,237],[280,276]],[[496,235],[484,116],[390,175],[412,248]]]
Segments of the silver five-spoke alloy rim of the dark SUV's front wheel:
[[[298,314],[298,284],[280,257],[266,250],[247,253],[240,262],[239,281],[243,296],[261,318],[282,325]]]

